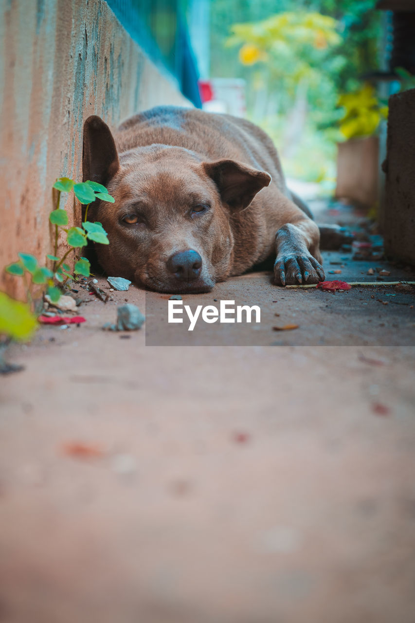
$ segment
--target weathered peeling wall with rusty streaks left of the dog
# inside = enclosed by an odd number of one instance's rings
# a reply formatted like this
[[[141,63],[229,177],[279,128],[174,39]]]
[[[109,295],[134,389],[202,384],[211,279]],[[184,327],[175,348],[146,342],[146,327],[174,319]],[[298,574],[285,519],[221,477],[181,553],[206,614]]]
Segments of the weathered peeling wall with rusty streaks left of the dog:
[[[103,0],[0,0],[0,287],[18,251],[50,252],[52,184],[82,179],[82,125],[186,104]],[[68,207],[72,222],[79,206]]]

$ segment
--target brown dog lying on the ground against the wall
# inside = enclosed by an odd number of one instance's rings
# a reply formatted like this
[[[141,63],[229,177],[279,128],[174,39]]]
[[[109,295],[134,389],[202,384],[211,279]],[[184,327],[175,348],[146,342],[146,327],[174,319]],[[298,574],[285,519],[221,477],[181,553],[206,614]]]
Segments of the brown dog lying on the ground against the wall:
[[[107,274],[160,292],[208,292],[274,257],[277,285],[324,279],[318,227],[293,202],[269,136],[249,121],[158,107],[112,136],[89,117],[83,179],[115,197],[89,212],[108,232],[110,244],[96,245]]]

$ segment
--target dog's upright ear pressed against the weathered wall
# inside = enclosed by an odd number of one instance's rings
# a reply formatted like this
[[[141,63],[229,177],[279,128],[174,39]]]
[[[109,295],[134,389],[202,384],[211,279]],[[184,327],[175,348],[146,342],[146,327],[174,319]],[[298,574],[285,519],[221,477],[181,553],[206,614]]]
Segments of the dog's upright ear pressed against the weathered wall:
[[[110,128],[92,115],[83,125],[82,179],[106,186],[120,168],[117,148]]]

